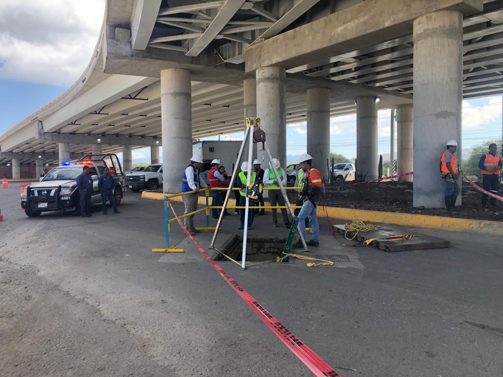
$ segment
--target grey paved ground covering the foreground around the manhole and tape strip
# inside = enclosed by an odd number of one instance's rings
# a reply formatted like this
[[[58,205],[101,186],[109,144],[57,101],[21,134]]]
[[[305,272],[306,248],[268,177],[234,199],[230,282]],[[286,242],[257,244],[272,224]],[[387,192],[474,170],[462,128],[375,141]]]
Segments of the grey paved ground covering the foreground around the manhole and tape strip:
[[[12,187],[0,208],[0,375],[312,375],[176,224],[186,252],[150,251],[164,243],[160,202],[128,193],[120,215],[32,219]],[[254,232],[284,231],[270,222]],[[236,218],[226,224],[237,232]],[[503,236],[421,230],[453,246],[384,253],[322,228],[318,253],[350,263],[222,266],[344,377],[503,375]]]

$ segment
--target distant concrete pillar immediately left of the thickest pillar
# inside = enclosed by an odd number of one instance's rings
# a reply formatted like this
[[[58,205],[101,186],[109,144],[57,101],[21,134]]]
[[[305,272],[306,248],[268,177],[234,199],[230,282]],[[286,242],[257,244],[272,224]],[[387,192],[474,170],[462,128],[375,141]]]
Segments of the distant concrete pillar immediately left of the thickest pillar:
[[[399,105],[396,108],[396,172],[413,171],[414,152],[414,107]],[[398,178],[402,182],[412,182],[413,175]]]

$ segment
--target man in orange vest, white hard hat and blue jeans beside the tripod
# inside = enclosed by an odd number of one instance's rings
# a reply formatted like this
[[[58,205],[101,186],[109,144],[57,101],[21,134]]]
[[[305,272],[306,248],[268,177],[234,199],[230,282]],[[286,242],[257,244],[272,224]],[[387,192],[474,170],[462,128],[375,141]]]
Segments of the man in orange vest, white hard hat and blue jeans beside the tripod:
[[[306,176],[303,178],[304,184],[302,186],[302,193],[300,194],[301,200],[303,200],[302,208],[300,209],[298,218],[300,224],[300,230],[304,239],[306,238],[306,229],[302,225],[306,218],[311,221],[311,228],[313,230],[313,236],[310,241],[307,241],[307,246],[319,246],[319,225],[318,218],[316,217],[316,206],[321,200],[321,190],[323,187],[323,182],[321,178],[321,173],[318,169],[312,166],[312,157],[307,153],[300,155],[300,167],[306,172]],[[299,249],[303,248],[300,239],[292,248]]]

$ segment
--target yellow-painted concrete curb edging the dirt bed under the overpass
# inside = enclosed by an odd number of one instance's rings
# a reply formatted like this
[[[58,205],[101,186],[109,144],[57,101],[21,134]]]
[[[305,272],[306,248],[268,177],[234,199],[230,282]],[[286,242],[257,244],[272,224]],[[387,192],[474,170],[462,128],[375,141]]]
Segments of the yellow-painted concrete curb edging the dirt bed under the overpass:
[[[163,200],[164,194],[144,191],[141,194],[143,199]],[[175,202],[182,202],[182,197],[172,199]],[[198,203],[206,204],[205,197],[199,197]],[[323,208],[318,206],[318,218],[324,217]],[[477,232],[485,234],[503,233],[503,222],[489,220],[458,219],[444,216],[412,215],[406,213],[381,212],[354,210],[351,208],[326,207],[328,217],[341,220],[361,220],[371,223],[396,224],[401,226],[413,226],[420,228],[444,229],[455,232]]]

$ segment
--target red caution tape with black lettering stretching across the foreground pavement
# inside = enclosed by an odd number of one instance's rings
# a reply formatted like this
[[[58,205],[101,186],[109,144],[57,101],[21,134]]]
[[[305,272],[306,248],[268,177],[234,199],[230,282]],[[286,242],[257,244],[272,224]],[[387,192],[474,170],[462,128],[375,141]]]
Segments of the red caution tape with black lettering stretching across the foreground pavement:
[[[234,289],[234,291],[239,295],[239,297],[259,316],[259,318],[269,327],[269,329],[281,339],[283,343],[286,344],[288,348],[311,369],[314,375],[318,377],[340,377],[335,370],[333,370],[326,362],[324,362],[317,354],[315,354],[309,347],[307,347],[299,338],[297,338],[290,330],[288,330],[280,321],[278,321],[271,313],[269,313],[266,308],[260,305],[257,300],[255,300],[249,293],[247,293],[237,282],[223,270],[220,265],[213,260],[213,258],[197,243],[197,241],[192,237],[187,228],[182,224],[182,221],[178,217],[171,204],[171,210],[177,218],[180,227],[187,235],[187,237],[192,241],[192,243],[197,247],[199,252],[203,254],[208,262],[211,263],[213,268],[224,278],[225,281]]]

